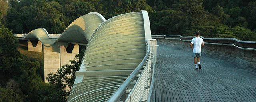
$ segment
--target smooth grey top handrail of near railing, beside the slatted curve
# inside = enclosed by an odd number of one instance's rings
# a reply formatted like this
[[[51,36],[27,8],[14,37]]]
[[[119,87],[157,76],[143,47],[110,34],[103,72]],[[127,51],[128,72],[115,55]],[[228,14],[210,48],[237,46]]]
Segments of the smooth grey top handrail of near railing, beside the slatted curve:
[[[140,64],[133,70],[133,72],[128,76],[128,78],[123,82],[123,84],[116,90],[116,92],[108,99],[107,102],[119,101],[119,99],[121,98],[123,93],[126,91],[126,89],[131,84],[133,79],[136,77],[136,75],[138,74],[140,69],[143,67],[144,63],[146,62],[146,59],[148,58],[148,56],[150,54],[150,45],[148,44],[148,42],[146,42],[146,44],[148,45],[148,48],[147,48],[148,51],[147,51],[146,56],[143,58],[143,60],[140,62]]]

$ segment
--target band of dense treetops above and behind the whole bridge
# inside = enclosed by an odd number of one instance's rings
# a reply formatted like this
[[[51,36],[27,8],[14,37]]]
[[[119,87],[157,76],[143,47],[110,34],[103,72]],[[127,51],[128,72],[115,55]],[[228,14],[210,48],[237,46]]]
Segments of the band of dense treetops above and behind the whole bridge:
[[[6,0],[1,2],[6,4]],[[14,33],[28,33],[36,28],[62,33],[76,18],[89,12],[99,12],[108,19],[147,10],[152,34],[193,36],[193,30],[200,30],[205,37],[248,40],[228,29],[226,32],[232,34],[216,33],[222,32],[215,31],[219,26],[242,27],[250,30],[250,35],[256,35],[255,0],[8,0],[8,3],[8,9],[0,8],[0,17],[2,12],[5,25]]]

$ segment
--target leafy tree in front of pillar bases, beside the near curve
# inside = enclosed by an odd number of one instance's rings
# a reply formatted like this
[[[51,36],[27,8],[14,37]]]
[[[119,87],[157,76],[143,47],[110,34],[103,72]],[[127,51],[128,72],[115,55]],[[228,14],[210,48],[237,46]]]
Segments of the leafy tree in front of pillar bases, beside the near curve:
[[[70,63],[70,65],[61,66],[56,74],[50,73],[46,76],[50,86],[44,85],[42,87],[39,92],[39,101],[66,101],[76,78],[75,72],[79,70],[78,54],[74,60],[70,60]]]

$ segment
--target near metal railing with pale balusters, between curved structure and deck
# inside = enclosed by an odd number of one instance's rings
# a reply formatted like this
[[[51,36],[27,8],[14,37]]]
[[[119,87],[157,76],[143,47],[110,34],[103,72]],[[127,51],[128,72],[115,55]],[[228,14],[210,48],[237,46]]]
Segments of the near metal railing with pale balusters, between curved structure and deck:
[[[147,53],[142,62],[134,69],[116,92],[109,98],[107,102],[141,102],[148,99],[150,92],[152,92],[152,78],[151,74],[151,57],[150,45],[147,43]],[[154,63],[154,62],[153,62]],[[151,85],[150,85],[151,84]],[[150,98],[149,98],[150,99]]]

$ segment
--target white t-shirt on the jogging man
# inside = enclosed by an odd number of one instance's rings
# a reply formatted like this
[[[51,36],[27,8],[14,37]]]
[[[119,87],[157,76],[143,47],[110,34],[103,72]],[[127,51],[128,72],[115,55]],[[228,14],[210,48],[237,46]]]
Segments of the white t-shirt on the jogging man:
[[[191,43],[194,45],[193,53],[201,53],[201,45],[204,40],[200,37],[193,38]]]

